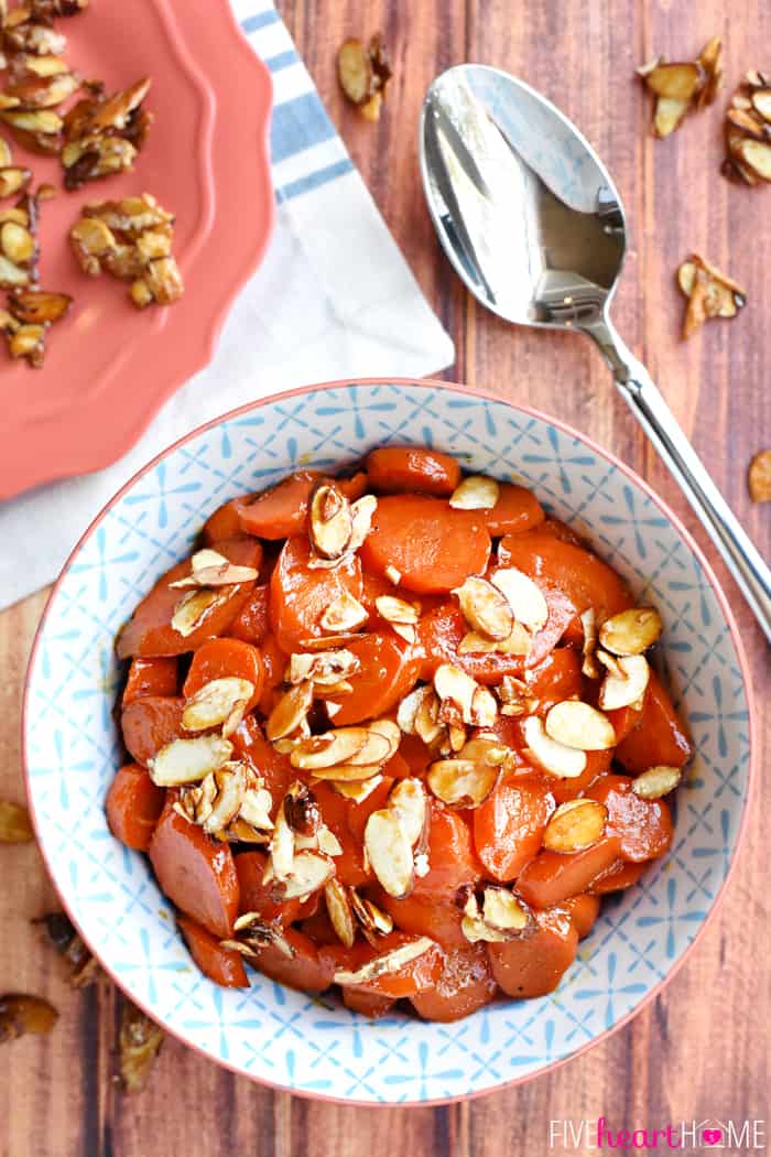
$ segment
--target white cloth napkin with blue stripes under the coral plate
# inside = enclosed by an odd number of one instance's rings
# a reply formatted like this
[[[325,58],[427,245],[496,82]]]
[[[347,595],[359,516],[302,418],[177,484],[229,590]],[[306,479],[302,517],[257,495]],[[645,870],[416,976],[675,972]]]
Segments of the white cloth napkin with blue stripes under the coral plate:
[[[275,89],[277,219],[212,361],[120,462],[0,503],[0,607],[51,582],[112,494],[202,422],[270,393],[341,377],[422,377],[454,360],[355,171],[275,8],[231,0]]]

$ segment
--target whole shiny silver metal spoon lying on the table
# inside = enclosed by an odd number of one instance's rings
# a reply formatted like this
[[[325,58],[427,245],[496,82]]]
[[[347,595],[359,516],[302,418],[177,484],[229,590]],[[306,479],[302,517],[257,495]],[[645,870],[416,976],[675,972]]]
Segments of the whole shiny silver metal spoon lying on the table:
[[[591,145],[522,81],[459,65],[427,93],[420,147],[431,218],[458,275],[509,322],[596,341],[771,641],[769,567],[610,322],[627,224]]]

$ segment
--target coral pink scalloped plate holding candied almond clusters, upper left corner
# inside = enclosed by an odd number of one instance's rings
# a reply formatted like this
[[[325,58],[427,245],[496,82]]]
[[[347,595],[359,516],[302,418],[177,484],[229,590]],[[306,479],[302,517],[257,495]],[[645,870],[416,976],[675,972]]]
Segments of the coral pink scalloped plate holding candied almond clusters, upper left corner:
[[[151,76],[146,106],[155,124],[134,172],[43,205],[40,286],[71,294],[74,305],[50,331],[42,369],[9,361],[0,348],[0,498],[105,466],[131,448],[162,403],[210,360],[274,214],[270,75],[229,0],[96,3],[57,25],[73,67],[109,90]],[[58,160],[10,145],[37,183],[60,185]],[[141,312],[126,285],[82,274],[67,242],[82,205],[140,192],[176,214],[186,285],[177,304]]]

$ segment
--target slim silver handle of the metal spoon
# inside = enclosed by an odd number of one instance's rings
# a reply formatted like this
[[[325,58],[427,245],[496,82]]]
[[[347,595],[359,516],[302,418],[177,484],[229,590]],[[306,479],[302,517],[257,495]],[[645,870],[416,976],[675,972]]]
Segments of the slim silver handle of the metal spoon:
[[[677,425],[650,374],[609,323],[587,327],[610,367],[616,385],[657,448],[771,642],[771,570]]]

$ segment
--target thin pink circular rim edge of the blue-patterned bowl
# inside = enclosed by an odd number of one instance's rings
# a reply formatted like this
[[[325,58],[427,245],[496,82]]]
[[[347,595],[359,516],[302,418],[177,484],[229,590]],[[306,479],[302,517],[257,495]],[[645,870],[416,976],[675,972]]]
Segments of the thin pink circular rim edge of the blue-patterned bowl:
[[[655,503],[655,506],[673,524],[680,537],[688,546],[688,548],[698,560],[704,574],[706,575],[714,591],[720,610],[728,625],[728,629],[731,631],[731,636],[734,643],[734,648],[736,650],[736,657],[741,671],[742,684],[744,687],[744,693],[747,695],[747,714],[748,714],[747,722],[748,722],[748,736],[749,736],[749,744],[748,744],[749,751],[748,751],[748,769],[747,769],[747,793],[744,795],[744,803],[739,825],[739,831],[736,833],[736,840],[734,843],[731,860],[728,861],[726,875],[714,894],[710,909],[706,914],[706,919],[698,928],[696,935],[694,936],[694,939],[684,949],[680,959],[675,961],[675,964],[667,972],[663,979],[660,980],[657,985],[654,985],[653,988],[651,988],[651,990],[645,994],[645,996],[640,1000],[639,1004],[637,1004],[633,1009],[627,1012],[625,1016],[621,1017],[615,1024],[610,1025],[610,1027],[603,1029],[602,1032],[598,1033],[591,1040],[585,1041],[581,1046],[579,1046],[574,1052],[570,1053],[569,1055],[557,1057],[554,1061],[549,1061],[548,1064],[546,1064],[542,1069],[539,1069],[536,1073],[526,1073],[520,1077],[512,1078],[511,1081],[502,1081],[489,1089],[480,1089],[476,1091],[459,1093],[454,1097],[435,1097],[428,1100],[406,1100],[398,1103],[357,1100],[355,1098],[349,1098],[349,1097],[338,1097],[332,1093],[320,1093],[313,1090],[292,1089],[291,1086],[288,1086],[286,1084],[281,1084],[274,1081],[268,1081],[267,1078],[259,1076],[257,1074],[247,1073],[243,1068],[239,1068],[237,1064],[233,1064],[228,1060],[224,1060],[218,1056],[213,1056],[210,1053],[207,1053],[200,1045],[186,1040],[176,1029],[170,1027],[165,1022],[158,1019],[157,1015],[154,1014],[154,1011],[150,1008],[148,1008],[143,1001],[138,1001],[131,993],[126,992],[124,985],[117,979],[117,977],[112,973],[112,971],[105,967],[105,965],[103,964],[99,953],[94,949],[94,945],[91,944],[89,937],[81,928],[79,921],[74,918],[65,897],[61,894],[59,886],[54,879],[47,852],[39,839],[39,827],[37,821],[37,815],[35,811],[35,802],[32,797],[30,774],[29,774],[29,752],[27,747],[28,722],[30,712],[31,671],[37,661],[37,653],[42,643],[43,633],[46,626],[49,614],[51,613],[53,605],[57,600],[59,589],[65,577],[67,576],[67,573],[69,572],[69,568],[73,565],[75,558],[80,553],[83,544],[88,538],[90,538],[94,531],[96,531],[96,529],[103,522],[103,519],[106,517],[110,510],[123,499],[124,494],[126,494],[144,474],[147,474],[150,470],[153,470],[163,458],[168,457],[170,454],[173,454],[176,450],[178,450],[186,443],[191,442],[193,439],[199,437],[201,434],[206,433],[206,430],[214,429],[215,427],[221,426],[223,422],[231,421],[246,413],[252,413],[253,411],[259,410],[262,406],[282,401],[286,398],[297,398],[309,393],[318,393],[323,391],[326,392],[332,390],[344,390],[344,389],[350,389],[351,386],[359,386],[359,385],[408,385],[425,390],[439,390],[439,391],[447,390],[453,393],[460,393],[473,398],[480,398],[484,401],[496,401],[503,404],[512,410],[519,411],[519,413],[526,414],[531,418],[536,418],[540,421],[555,426],[557,429],[562,430],[564,434],[568,434],[570,437],[577,439],[584,445],[587,445],[594,454],[599,455],[601,458],[605,458],[617,470],[620,470],[623,474],[625,474],[627,478],[629,478],[632,482],[639,486],[639,488],[645,494],[647,494],[647,496]],[[393,377],[393,376],[351,377],[351,378],[340,378],[338,381],[332,381],[332,382],[318,382],[311,385],[303,385],[291,390],[282,390],[279,391],[277,393],[270,393],[265,398],[260,398],[257,401],[247,401],[242,406],[237,406],[236,408],[230,410],[224,414],[221,414],[218,418],[213,418],[210,421],[203,422],[201,426],[198,426],[188,434],[185,434],[183,437],[178,439],[176,442],[172,442],[164,450],[161,450],[161,452],[155,455],[155,457],[150,458],[150,460],[147,462],[143,466],[141,466],[134,474],[132,474],[132,477],[120,487],[120,489],[118,489],[113,494],[113,496],[104,504],[104,507],[99,510],[96,517],[91,519],[87,529],[80,536],[75,546],[67,557],[67,560],[64,563],[61,572],[51,589],[51,594],[46,599],[45,606],[43,609],[43,614],[40,616],[40,620],[35,632],[35,639],[32,642],[32,648],[30,650],[30,656],[24,673],[24,692],[23,692],[22,714],[21,714],[21,764],[22,764],[22,778],[24,782],[24,791],[27,795],[27,802],[29,805],[29,812],[30,812],[30,818],[32,820],[32,828],[35,831],[37,847],[43,858],[45,869],[51,879],[51,883],[53,884],[54,891],[59,900],[61,901],[64,911],[66,912],[67,916],[72,921],[77,933],[81,935],[82,939],[84,941],[91,955],[96,957],[101,967],[110,977],[111,981],[120,989],[120,992],[125,996],[127,996],[128,1000],[131,1000],[142,1012],[144,1012],[146,1016],[150,1017],[150,1019],[153,1019],[156,1024],[158,1024],[164,1032],[166,1032],[170,1037],[173,1037],[176,1040],[180,1041],[187,1048],[192,1048],[197,1053],[200,1053],[208,1061],[212,1061],[215,1064],[218,1064],[222,1068],[228,1069],[236,1076],[246,1077],[247,1079],[253,1081],[255,1084],[264,1085],[265,1088],[268,1088],[275,1092],[289,1092],[295,1097],[328,1101],[329,1104],[343,1105],[343,1106],[349,1105],[349,1106],[366,1107],[366,1108],[394,1108],[394,1107],[432,1108],[442,1105],[460,1104],[466,1100],[476,1099],[477,1097],[488,1097],[494,1093],[502,1092],[505,1089],[513,1089],[517,1085],[525,1084],[528,1081],[535,1079],[536,1077],[546,1076],[546,1074],[548,1073],[554,1073],[557,1068],[561,1068],[563,1064],[568,1064],[577,1060],[577,1057],[587,1053],[591,1048],[594,1048],[595,1045],[599,1045],[600,1041],[607,1040],[613,1033],[617,1032],[620,1029],[623,1029],[646,1005],[651,1004],[655,1000],[655,997],[663,992],[663,989],[667,987],[670,980],[680,972],[685,960],[688,960],[691,957],[694,949],[702,939],[709,926],[712,923],[725,898],[726,887],[729,884],[735,872],[736,861],[739,860],[742,845],[747,837],[750,806],[757,789],[757,759],[755,754],[756,734],[757,734],[757,720],[756,720],[756,703],[755,703],[755,692],[754,692],[753,680],[750,677],[747,655],[744,653],[744,646],[742,643],[739,627],[736,626],[736,621],[731,610],[728,598],[725,595],[722,587],[720,585],[720,582],[717,575],[714,574],[710,562],[705,558],[700,546],[696,543],[690,531],[685,528],[685,525],[682,523],[680,517],[674,513],[674,510],[669,508],[668,503],[662,498],[660,498],[655,493],[655,491],[648,485],[648,482],[646,482],[645,479],[640,478],[639,474],[637,474],[636,471],[631,469],[631,466],[628,466],[624,462],[622,462],[621,458],[618,458],[615,454],[613,454],[613,451],[606,450],[598,442],[593,441],[593,439],[588,437],[585,434],[579,433],[579,430],[574,429],[572,426],[568,425],[561,419],[553,418],[550,414],[547,414],[541,410],[536,410],[534,406],[519,405],[518,403],[510,401],[507,398],[503,398],[490,390],[481,390],[477,388],[462,385],[459,382],[443,382],[438,378],[412,378],[412,377]]]

